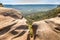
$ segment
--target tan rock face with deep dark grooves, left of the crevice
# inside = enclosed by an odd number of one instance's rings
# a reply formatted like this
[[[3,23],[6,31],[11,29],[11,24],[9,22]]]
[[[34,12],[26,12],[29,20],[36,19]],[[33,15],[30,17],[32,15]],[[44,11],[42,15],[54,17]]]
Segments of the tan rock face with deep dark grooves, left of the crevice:
[[[26,21],[19,11],[0,7],[0,40],[27,40]]]

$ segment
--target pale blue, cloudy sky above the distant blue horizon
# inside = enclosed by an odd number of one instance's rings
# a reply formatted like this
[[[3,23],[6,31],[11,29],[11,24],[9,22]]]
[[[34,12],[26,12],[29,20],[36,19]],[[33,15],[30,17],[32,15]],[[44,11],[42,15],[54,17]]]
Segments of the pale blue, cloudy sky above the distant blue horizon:
[[[60,0],[0,0],[3,4],[60,4]]]

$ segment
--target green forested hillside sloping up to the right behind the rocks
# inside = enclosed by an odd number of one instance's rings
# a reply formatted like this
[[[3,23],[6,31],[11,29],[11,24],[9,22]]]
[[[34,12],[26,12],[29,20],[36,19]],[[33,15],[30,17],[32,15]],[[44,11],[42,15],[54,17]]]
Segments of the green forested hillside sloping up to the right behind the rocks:
[[[55,16],[57,16],[58,13],[60,13],[59,5],[56,8],[49,10],[49,11],[35,12],[35,13],[25,15],[25,18],[29,22],[34,22],[34,21],[39,21],[39,20],[55,17]]]

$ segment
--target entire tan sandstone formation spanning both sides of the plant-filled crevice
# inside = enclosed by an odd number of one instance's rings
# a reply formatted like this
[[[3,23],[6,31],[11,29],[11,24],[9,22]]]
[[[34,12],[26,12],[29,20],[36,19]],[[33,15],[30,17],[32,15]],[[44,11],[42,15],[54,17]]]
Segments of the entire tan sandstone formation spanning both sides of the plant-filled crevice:
[[[33,38],[26,21],[18,10],[0,7],[0,40],[60,40],[60,14],[34,22]]]

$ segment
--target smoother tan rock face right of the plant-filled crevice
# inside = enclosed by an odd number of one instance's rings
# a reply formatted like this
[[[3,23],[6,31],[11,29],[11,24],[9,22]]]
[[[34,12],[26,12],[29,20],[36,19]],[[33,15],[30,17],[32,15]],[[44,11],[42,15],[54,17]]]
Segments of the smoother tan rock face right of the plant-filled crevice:
[[[60,17],[33,23],[34,40],[60,40]]]

